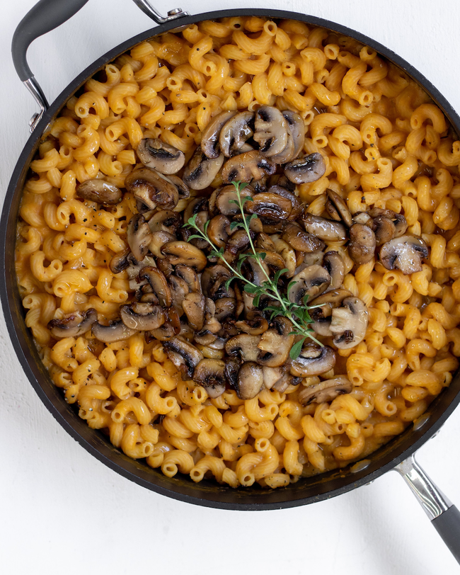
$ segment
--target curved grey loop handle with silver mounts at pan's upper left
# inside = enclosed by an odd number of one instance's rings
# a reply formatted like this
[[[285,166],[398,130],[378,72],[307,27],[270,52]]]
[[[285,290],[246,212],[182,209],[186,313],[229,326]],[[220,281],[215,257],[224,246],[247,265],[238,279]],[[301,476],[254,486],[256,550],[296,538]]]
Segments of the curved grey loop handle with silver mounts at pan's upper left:
[[[19,78],[40,106],[40,112],[35,113],[30,120],[30,132],[33,132],[35,126],[40,122],[49,104],[40,84],[29,68],[27,62],[28,47],[35,38],[39,38],[39,36],[54,30],[69,20],[80,8],[83,8],[86,2],[88,0],[40,0],[24,16],[13,34],[11,55],[13,56],[14,67]],[[180,8],[174,8],[168,12],[166,18],[163,18],[150,6],[147,0],[134,0],[134,4],[158,24],[176,20],[181,16],[188,16],[187,12],[183,12]]]

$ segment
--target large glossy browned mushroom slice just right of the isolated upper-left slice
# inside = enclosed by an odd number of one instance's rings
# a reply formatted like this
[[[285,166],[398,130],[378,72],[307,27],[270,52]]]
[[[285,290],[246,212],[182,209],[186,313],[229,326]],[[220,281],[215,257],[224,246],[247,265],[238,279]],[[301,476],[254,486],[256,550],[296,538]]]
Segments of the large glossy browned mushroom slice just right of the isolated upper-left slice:
[[[157,205],[172,210],[179,201],[178,188],[166,176],[145,166],[134,169],[126,176],[125,188],[150,210]]]

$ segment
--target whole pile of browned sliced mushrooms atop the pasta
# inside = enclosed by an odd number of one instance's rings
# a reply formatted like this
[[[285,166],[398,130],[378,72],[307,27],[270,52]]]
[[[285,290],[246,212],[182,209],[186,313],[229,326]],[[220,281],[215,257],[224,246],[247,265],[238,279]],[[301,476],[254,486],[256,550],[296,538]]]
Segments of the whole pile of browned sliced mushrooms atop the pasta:
[[[95,309],[53,319],[48,325],[54,338],[81,336],[113,343],[143,332],[146,341],[162,342],[183,380],[206,388],[219,397],[226,387],[241,399],[251,399],[264,387],[283,392],[305,377],[330,372],[332,377],[302,389],[306,405],[349,393],[345,376],[333,377],[335,350],[357,346],[367,330],[367,307],[343,289],[345,264],[328,242],[347,243],[348,253],[360,266],[379,255],[389,270],[404,274],[422,270],[428,250],[420,237],[407,234],[406,219],[391,210],[374,208],[350,214],[343,198],[327,191],[328,217],[305,210],[296,185],[316,181],[325,171],[321,154],[301,156],[304,121],[290,110],[262,106],[256,112],[224,112],[202,133],[202,141],[185,165],[185,155],[161,140],[146,138],[137,148],[141,164],[127,176],[126,192],[137,201],[137,212],[127,225],[129,249],[115,254],[110,270],[126,273],[132,297],[120,306],[120,317],[104,321]],[[220,173],[220,176],[219,176]],[[180,174],[180,176],[178,175]],[[212,188],[217,177],[222,186]],[[243,291],[239,280],[226,287],[231,272],[222,261],[209,258],[209,245],[188,238],[184,223],[196,215],[200,229],[215,246],[224,249],[229,263],[246,253],[249,238],[231,222],[241,221],[232,181],[246,182],[245,204],[251,220],[251,239],[263,251],[265,271],[279,280],[291,302],[308,296],[314,323],[323,343],[307,339],[295,360],[289,351],[297,337],[293,325],[280,315],[270,320],[265,311],[273,300]],[[190,192],[190,190],[193,190]],[[101,179],[81,183],[77,195],[100,205],[115,205],[123,191]],[[183,212],[174,211],[188,200]],[[256,285],[265,280],[259,264],[247,258],[243,275]],[[294,283],[292,283],[294,282]]]

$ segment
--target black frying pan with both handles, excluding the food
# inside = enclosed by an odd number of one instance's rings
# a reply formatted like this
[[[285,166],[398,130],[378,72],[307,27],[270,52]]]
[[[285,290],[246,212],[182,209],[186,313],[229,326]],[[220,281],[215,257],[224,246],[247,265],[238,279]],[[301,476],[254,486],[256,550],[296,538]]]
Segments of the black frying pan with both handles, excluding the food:
[[[129,50],[130,47],[154,35],[172,30],[181,25],[188,25],[202,20],[213,20],[228,16],[268,16],[270,18],[294,18],[307,24],[319,25],[340,34],[356,38],[365,45],[384,55],[397,64],[415,81],[430,93],[433,100],[441,108],[454,129],[460,134],[460,118],[452,106],[432,86],[422,74],[405,62],[401,57],[388,50],[378,42],[366,36],[321,18],[305,16],[300,13],[277,10],[260,10],[253,8],[234,9],[208,12],[197,16],[188,16],[182,11],[171,11],[166,18],[161,18],[146,0],[134,0],[142,10],[159,23],[159,26],[123,42],[113,48],[96,62],[93,62],[84,72],[79,74],[58,96],[56,101],[48,106],[46,98],[30,72],[26,61],[26,52],[30,42],[38,36],[56,28],[67,21],[88,0],[40,0],[38,4],[23,18],[13,37],[13,62],[19,77],[28,87],[40,105],[40,113],[31,120],[31,131],[27,144],[18,159],[8,186],[0,224],[0,266],[5,270],[0,282],[1,302],[4,309],[6,325],[13,343],[13,348],[23,366],[30,383],[42,402],[52,415],[88,452],[93,454],[105,465],[127,479],[157,493],[173,497],[180,501],[197,505],[232,510],[264,510],[279,509],[314,503],[337,496],[351,489],[372,482],[381,474],[391,469],[400,472],[410,485],[418,501],[432,520],[438,533],[447,543],[449,549],[460,562],[460,513],[452,506],[445,496],[437,489],[427,475],[416,464],[413,455],[418,448],[437,433],[444,421],[452,414],[460,402],[460,373],[457,372],[451,385],[439,394],[422,416],[418,424],[409,426],[404,433],[393,438],[389,443],[372,453],[366,467],[350,466],[335,470],[317,477],[302,479],[297,484],[290,484],[282,489],[272,491],[258,489],[257,486],[244,489],[229,489],[225,486],[202,481],[193,483],[186,477],[169,479],[156,469],[151,469],[142,462],[126,457],[105,438],[105,435],[93,431],[86,422],[79,419],[72,406],[64,402],[59,389],[54,386],[47,370],[43,367],[30,331],[25,327],[24,312],[16,286],[14,269],[14,248],[16,237],[16,220],[21,199],[21,191],[30,161],[38,149],[40,138],[47,125],[53,120],[70,96],[72,96],[86,80],[93,76],[106,63]],[[357,470],[359,469],[359,470]]]

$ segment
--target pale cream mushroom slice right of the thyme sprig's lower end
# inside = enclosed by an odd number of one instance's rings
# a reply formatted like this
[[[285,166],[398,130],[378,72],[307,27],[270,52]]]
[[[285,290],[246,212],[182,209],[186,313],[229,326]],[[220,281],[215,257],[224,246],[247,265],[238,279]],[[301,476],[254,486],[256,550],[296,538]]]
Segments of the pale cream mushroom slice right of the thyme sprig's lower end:
[[[345,297],[340,307],[332,310],[330,332],[333,343],[339,349],[357,346],[364,339],[369,321],[367,306],[359,297]]]

